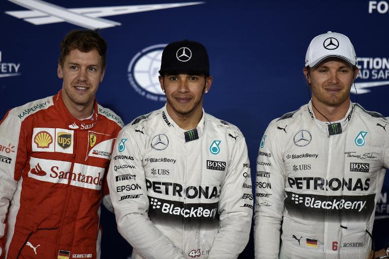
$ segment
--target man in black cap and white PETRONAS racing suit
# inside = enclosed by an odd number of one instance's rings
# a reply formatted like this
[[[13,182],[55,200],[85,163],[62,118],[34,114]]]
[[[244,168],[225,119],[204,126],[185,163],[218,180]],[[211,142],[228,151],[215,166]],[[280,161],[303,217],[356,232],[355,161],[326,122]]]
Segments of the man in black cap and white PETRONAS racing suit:
[[[208,54],[192,41],[162,54],[166,105],[119,134],[108,185],[119,232],[138,258],[237,258],[251,226],[250,165],[242,132],[208,115]]]

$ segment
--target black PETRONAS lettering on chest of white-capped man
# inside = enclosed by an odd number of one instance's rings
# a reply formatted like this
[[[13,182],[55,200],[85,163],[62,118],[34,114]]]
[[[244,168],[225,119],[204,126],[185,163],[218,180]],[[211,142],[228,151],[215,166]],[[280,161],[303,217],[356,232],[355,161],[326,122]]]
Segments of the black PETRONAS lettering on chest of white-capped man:
[[[370,187],[370,178],[364,180],[363,182],[361,178],[332,178],[327,180],[322,177],[288,177],[289,187],[298,190],[324,190],[325,188],[326,191],[328,189],[331,191],[367,191]]]

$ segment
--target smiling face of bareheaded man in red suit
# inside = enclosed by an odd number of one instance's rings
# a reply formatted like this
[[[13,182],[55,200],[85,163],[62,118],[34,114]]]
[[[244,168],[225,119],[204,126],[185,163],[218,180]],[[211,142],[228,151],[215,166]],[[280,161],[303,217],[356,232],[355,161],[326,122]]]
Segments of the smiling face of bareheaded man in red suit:
[[[62,99],[72,109],[93,106],[96,91],[104,77],[105,68],[97,50],[71,50],[63,64],[58,64],[57,75],[63,79]]]

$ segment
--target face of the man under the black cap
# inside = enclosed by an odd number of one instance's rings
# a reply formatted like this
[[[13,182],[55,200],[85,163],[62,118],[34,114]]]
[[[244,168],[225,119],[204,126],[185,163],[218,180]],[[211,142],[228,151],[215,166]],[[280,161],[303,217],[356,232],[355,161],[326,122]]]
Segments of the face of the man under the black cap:
[[[166,108],[172,116],[190,117],[202,114],[203,94],[212,84],[212,77],[204,74],[179,74],[160,76],[162,90],[166,93]]]

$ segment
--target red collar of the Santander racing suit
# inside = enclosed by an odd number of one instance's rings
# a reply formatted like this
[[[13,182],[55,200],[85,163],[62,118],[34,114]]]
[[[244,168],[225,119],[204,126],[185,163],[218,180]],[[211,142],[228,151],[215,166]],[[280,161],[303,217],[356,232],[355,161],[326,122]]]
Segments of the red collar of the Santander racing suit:
[[[63,120],[67,125],[69,129],[73,130],[85,130],[85,129],[92,129],[97,122],[98,117],[98,105],[97,101],[95,99],[93,104],[93,117],[91,120],[77,120],[75,119],[67,110],[65,104],[62,101],[62,90],[58,92],[57,95],[54,96],[53,102],[55,107],[59,110],[59,114],[61,115],[61,119]]]

